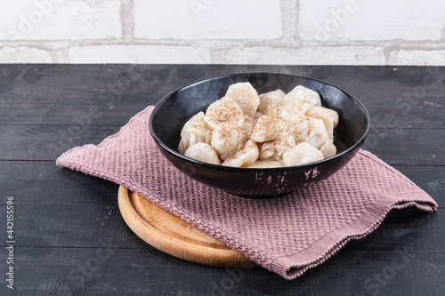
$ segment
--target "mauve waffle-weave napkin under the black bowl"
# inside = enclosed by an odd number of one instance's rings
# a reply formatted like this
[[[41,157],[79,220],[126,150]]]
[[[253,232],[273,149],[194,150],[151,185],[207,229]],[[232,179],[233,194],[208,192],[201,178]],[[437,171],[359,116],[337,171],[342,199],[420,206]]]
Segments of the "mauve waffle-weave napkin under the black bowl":
[[[231,196],[166,161],[148,128],[152,109],[97,146],[72,148],[57,164],[124,185],[287,279],[367,236],[392,209],[437,209],[425,191],[364,150],[328,180],[294,194],[266,200]]]

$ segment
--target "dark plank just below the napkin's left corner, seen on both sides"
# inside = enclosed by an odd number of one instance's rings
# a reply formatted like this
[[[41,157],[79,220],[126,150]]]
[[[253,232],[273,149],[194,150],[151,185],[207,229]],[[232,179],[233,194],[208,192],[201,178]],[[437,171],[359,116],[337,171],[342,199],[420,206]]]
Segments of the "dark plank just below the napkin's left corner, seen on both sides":
[[[443,166],[395,165],[417,186],[445,205]],[[117,204],[117,184],[58,167],[54,161],[0,161],[0,188],[23,202]]]

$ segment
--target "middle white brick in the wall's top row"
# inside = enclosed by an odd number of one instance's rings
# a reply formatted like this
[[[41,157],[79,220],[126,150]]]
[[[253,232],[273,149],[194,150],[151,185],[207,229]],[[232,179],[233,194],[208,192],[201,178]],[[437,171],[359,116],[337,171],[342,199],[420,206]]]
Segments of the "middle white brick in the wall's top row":
[[[280,3],[275,0],[134,0],[134,36],[180,40],[275,39],[281,36]]]

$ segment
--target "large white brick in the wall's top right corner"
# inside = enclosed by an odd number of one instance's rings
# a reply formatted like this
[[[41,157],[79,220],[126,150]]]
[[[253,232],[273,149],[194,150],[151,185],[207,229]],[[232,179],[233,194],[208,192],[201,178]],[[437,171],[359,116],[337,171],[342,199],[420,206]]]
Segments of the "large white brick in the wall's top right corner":
[[[304,40],[437,41],[445,24],[444,1],[300,0],[299,4],[298,30]]]

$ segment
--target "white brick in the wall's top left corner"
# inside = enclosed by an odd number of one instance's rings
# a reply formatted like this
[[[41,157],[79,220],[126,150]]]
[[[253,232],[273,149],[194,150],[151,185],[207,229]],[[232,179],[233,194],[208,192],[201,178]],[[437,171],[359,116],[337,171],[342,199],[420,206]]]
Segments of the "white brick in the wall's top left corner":
[[[121,36],[118,1],[0,2],[0,40],[101,40]]]

